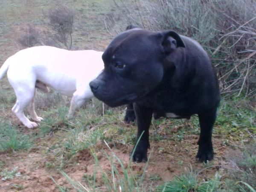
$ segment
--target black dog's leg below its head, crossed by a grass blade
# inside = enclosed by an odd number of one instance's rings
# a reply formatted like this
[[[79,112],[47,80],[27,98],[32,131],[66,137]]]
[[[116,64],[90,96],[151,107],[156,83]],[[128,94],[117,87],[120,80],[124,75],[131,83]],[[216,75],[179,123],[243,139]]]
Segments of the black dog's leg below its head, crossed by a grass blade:
[[[147,151],[148,151],[148,148],[150,148],[148,130],[151,123],[153,111],[150,108],[146,108],[136,103],[134,104],[134,110],[135,110],[135,114],[137,118],[137,126],[138,126],[138,131],[137,131],[138,144],[137,144],[137,147],[135,148],[135,151],[133,150],[134,154],[132,158],[136,162],[142,162],[142,161],[145,162],[148,160]]]

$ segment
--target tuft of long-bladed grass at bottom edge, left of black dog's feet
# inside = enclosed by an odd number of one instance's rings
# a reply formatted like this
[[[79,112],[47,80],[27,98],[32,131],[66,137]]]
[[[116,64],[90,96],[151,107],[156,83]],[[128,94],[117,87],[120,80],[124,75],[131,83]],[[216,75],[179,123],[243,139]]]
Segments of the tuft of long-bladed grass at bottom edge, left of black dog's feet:
[[[108,146],[108,144],[105,142]],[[109,150],[111,148],[108,146]],[[152,191],[151,186],[144,186],[143,178],[145,177],[145,170],[148,166],[148,162],[143,169],[143,172],[138,177],[133,169],[131,161],[127,164],[124,163],[116,154],[111,151],[111,154],[105,153],[109,163],[111,164],[111,170],[105,171],[102,165],[99,163],[99,159],[95,151],[91,151],[95,160],[95,170],[93,175],[83,175],[84,184],[72,180],[65,172],[61,171],[61,174],[72,184],[73,189],[78,192],[98,192],[98,191],[111,191],[111,192],[148,192]],[[102,186],[96,185],[96,174],[99,173],[102,176]],[[52,178],[52,180],[54,180]],[[55,180],[54,180],[55,182]],[[55,182],[58,185],[58,183]],[[58,185],[60,191],[64,188]]]

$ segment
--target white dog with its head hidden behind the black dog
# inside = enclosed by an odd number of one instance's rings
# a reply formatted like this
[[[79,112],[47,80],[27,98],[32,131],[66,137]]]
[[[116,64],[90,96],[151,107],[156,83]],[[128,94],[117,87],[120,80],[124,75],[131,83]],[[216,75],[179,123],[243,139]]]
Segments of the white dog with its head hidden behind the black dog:
[[[52,87],[59,93],[72,97],[67,117],[73,116],[76,108],[93,97],[89,83],[104,68],[102,53],[38,46],[12,55],[0,68],[0,79],[7,73],[15,90],[17,101],[12,111],[27,128],[37,127],[37,123],[24,115],[24,108],[28,106],[31,118],[40,122],[43,118],[35,113],[35,88],[48,92],[47,87]]]

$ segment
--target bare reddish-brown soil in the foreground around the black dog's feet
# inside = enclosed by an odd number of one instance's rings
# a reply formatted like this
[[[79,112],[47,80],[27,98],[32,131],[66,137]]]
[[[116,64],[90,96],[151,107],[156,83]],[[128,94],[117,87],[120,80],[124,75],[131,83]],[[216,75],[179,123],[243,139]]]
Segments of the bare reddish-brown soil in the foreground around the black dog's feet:
[[[132,127],[134,128],[134,126]],[[181,142],[168,139],[151,142],[151,149],[148,150],[148,157],[150,156],[148,165],[146,163],[134,162],[129,164],[130,152],[132,150],[130,145],[118,144],[113,146],[110,144],[111,149],[109,149],[105,143],[98,143],[96,146],[96,156],[103,172],[111,172],[111,161],[108,157],[113,157],[113,154],[123,162],[125,167],[130,165],[134,175],[141,175],[147,165],[145,182],[159,184],[163,183],[163,181],[172,180],[175,175],[187,172],[190,167],[199,170],[204,169],[205,166],[195,160],[198,148],[198,145],[196,145],[197,140],[197,135],[186,135]],[[46,141],[38,141],[38,145],[40,146],[42,142]],[[224,154],[228,153],[228,149],[221,144],[221,139],[214,139],[213,143],[215,159],[211,163],[216,168],[213,167],[202,172],[202,179],[214,175],[219,166],[226,163],[224,161]],[[0,192],[15,192],[19,185],[22,186],[22,189],[18,191],[23,192],[58,192],[58,186],[54,183],[53,179],[58,185],[67,187],[69,191],[75,191],[60,172],[46,166],[47,162],[51,161],[51,157],[42,154],[40,147],[35,147],[31,151],[2,153],[0,154],[0,160],[6,163],[5,169],[11,170],[17,167],[17,172],[20,173],[19,176],[15,176],[13,179],[0,181]],[[95,157],[91,154],[90,149],[79,151],[70,162],[72,163],[67,164],[63,171],[72,180],[84,183],[83,175],[93,176]],[[119,173],[122,175],[122,167],[117,162],[115,163]],[[154,176],[159,179],[154,181],[152,179]],[[105,191],[99,169],[96,173],[96,186],[99,189],[101,187],[100,191]]]

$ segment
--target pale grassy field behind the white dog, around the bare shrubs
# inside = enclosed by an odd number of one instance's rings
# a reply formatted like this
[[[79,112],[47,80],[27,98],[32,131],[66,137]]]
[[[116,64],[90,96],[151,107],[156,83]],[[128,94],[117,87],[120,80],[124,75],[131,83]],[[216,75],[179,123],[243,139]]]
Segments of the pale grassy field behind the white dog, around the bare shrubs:
[[[2,3],[0,8],[0,19],[3,25],[0,27],[0,63],[3,63],[9,56],[17,52],[17,39],[24,32],[27,24],[33,24],[42,33],[47,29],[47,22],[44,16],[50,8],[58,6],[60,2],[49,0],[47,3],[42,0],[27,1],[14,0]],[[105,30],[104,17],[111,9],[113,2],[108,0],[66,0],[64,5],[70,7],[75,15],[73,48],[74,49],[105,49],[113,37]],[[104,6],[102,6],[104,5]],[[97,38],[96,38],[96,34]],[[100,42],[100,43],[99,43]]]

